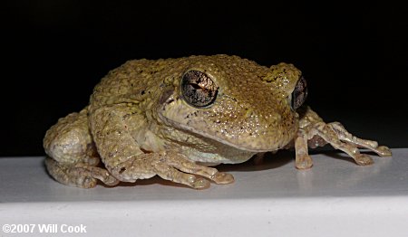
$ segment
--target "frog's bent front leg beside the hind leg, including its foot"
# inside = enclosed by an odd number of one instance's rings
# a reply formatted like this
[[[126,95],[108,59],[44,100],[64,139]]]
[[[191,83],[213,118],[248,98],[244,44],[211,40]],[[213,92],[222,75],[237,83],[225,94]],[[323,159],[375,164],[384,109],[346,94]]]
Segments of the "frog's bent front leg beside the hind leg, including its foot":
[[[209,187],[209,181],[200,176],[216,184],[234,181],[232,175],[212,167],[199,166],[177,151],[141,149],[137,140],[131,136],[131,129],[145,124],[143,120],[129,119],[132,112],[126,107],[116,105],[96,109],[91,116],[94,141],[102,162],[113,176],[123,182],[135,182],[137,179],[159,175],[163,179],[197,189]],[[133,116],[141,115],[133,113]]]

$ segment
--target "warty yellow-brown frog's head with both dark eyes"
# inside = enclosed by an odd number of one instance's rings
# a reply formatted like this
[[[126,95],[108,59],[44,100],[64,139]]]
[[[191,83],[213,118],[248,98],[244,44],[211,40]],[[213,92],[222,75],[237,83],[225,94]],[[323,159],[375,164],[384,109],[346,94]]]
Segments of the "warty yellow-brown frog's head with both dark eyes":
[[[292,64],[267,68],[216,55],[185,58],[175,68],[160,98],[164,123],[251,152],[276,150],[295,136],[307,90]]]

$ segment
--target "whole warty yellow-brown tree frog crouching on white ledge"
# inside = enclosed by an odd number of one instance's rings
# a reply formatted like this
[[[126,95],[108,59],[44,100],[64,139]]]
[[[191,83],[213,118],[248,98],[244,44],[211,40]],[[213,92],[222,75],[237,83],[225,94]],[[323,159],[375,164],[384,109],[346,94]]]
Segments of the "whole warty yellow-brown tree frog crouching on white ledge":
[[[330,144],[360,166],[391,149],[325,123],[306,105],[302,72],[231,56],[131,60],[109,71],[90,102],[44,136],[48,173],[64,185],[92,188],[160,176],[205,189],[234,176],[219,164],[294,148],[297,169],[313,166],[308,149]]]

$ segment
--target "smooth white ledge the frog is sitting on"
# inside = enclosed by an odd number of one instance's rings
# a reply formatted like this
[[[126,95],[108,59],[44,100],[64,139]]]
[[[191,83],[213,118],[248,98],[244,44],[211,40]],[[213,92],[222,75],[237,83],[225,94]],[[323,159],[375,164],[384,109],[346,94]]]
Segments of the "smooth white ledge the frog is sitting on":
[[[160,178],[85,190],[60,185],[44,157],[0,158],[0,225],[86,226],[78,236],[408,236],[408,149],[356,166],[342,154],[314,155],[299,171],[294,154],[219,166],[233,185],[196,191]],[[29,230],[30,232],[32,230]],[[53,235],[54,236],[54,235]]]

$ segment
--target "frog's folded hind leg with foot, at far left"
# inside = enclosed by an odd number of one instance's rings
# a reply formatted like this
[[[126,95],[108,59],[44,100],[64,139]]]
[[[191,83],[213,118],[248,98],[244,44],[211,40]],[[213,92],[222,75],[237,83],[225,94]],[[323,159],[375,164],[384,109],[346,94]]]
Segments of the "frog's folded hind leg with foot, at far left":
[[[100,157],[92,142],[86,116],[87,110],[72,113],[50,128],[44,137],[44,149],[48,157],[45,166],[55,180],[83,188],[96,185],[97,179],[105,185],[117,185],[119,181],[106,169],[97,167]]]

